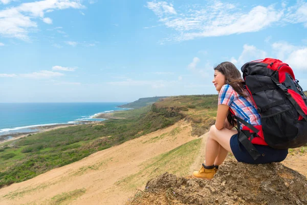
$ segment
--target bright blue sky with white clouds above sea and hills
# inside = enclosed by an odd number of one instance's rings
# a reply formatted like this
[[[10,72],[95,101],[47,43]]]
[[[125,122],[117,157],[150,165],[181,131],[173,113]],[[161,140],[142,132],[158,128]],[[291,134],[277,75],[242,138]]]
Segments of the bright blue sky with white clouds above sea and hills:
[[[0,56],[0,103],[217,94],[266,57],[307,90],[307,1],[0,0]]]

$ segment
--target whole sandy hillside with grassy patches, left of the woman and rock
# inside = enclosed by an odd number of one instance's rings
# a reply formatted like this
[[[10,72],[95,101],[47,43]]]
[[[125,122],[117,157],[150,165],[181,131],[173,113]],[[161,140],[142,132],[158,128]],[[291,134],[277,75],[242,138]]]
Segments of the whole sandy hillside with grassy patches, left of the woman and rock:
[[[203,160],[203,137],[190,122],[157,130],[96,152],[32,179],[3,187],[0,204],[124,204],[165,171],[187,175]],[[196,165],[197,166],[197,165]]]

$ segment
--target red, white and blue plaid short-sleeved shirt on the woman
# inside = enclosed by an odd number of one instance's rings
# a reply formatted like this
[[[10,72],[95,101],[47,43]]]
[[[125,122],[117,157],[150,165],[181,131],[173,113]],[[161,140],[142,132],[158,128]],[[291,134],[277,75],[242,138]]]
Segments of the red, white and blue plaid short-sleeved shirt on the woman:
[[[221,88],[218,94],[218,105],[227,105],[234,112],[235,116],[244,119],[249,124],[256,126],[261,125],[260,115],[255,108],[255,104],[248,91],[245,91],[248,97],[243,97],[226,84]],[[240,129],[244,125],[240,123]]]

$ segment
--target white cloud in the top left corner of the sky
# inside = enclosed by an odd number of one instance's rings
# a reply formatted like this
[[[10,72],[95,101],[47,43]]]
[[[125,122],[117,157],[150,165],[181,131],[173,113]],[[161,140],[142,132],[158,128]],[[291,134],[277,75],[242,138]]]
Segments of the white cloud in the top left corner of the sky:
[[[43,18],[45,12],[62,9],[84,8],[77,1],[72,0],[45,0],[31,3],[23,3],[17,7],[9,7],[0,10],[0,35],[29,40],[28,34],[37,31],[35,18]],[[49,18],[45,18],[50,23]]]

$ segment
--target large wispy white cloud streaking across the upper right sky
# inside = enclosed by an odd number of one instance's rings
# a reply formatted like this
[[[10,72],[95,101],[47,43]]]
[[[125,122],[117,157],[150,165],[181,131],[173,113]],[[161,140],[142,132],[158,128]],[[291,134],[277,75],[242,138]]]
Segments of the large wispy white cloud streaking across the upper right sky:
[[[272,25],[285,23],[303,23],[307,27],[307,3],[298,1],[290,8],[286,4],[270,6],[254,6],[251,10],[242,10],[235,5],[220,1],[207,1],[204,6],[181,6],[180,11],[171,12],[163,5],[166,2],[147,2],[165,27],[177,31],[166,37],[163,42],[181,42],[198,37],[223,36],[246,32],[257,32]],[[279,6],[279,8],[276,8]],[[177,15],[174,15],[175,12]],[[255,17],[256,16],[256,17]],[[149,27],[146,27],[149,28]]]

